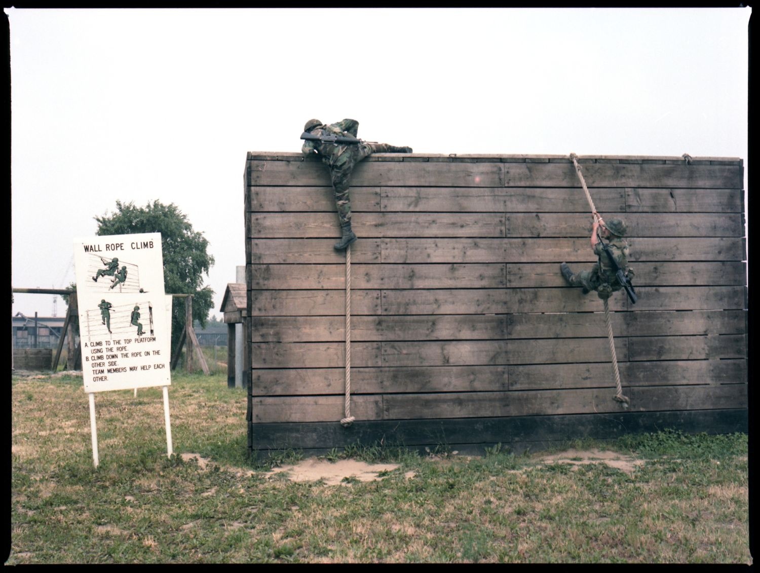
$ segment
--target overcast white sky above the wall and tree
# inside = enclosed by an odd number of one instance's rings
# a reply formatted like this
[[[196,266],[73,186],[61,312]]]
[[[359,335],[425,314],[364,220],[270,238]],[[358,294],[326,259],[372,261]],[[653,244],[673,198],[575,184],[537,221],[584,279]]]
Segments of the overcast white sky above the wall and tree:
[[[158,199],[211,243],[221,316],[245,154],[299,151],[312,117],[417,153],[689,153],[746,176],[751,8],[5,11],[14,287],[65,287],[93,217]]]

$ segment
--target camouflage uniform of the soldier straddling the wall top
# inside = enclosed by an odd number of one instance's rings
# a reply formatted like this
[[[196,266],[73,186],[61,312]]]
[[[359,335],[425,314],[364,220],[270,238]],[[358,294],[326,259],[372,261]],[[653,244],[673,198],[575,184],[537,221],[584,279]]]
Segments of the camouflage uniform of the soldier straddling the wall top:
[[[307,123],[307,125],[309,124]],[[350,135],[350,137],[356,138],[356,134],[359,132],[359,122],[356,119],[344,119],[330,125],[318,125],[306,131],[310,131],[312,135]],[[356,163],[372,154],[410,154],[412,150],[409,147],[395,147],[388,144],[334,144],[306,140],[303,142],[301,152],[304,155],[312,155],[316,152],[322,163],[330,168],[335,207],[338,217],[340,217],[340,224],[344,225],[351,221],[351,199],[348,188],[351,172],[353,172]]]

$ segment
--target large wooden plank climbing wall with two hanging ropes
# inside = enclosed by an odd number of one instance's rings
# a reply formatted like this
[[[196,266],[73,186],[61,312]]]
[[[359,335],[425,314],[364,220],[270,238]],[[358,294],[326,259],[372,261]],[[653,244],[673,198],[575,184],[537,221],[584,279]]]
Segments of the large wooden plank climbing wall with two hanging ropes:
[[[639,301],[565,286],[591,214],[560,156],[378,154],[352,179],[351,414],[345,255],[328,171],[245,166],[249,451],[356,444],[483,452],[625,432],[746,431],[743,162],[581,157],[597,210],[629,226]]]

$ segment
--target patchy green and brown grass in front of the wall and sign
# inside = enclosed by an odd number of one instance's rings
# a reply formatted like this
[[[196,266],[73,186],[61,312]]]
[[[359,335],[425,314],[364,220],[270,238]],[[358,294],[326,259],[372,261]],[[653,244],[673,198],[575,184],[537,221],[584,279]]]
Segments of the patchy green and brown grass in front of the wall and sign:
[[[174,450],[208,464],[167,459],[160,388],[96,396],[97,470],[81,377],[14,378],[12,401],[8,564],[752,562],[746,435],[568,444],[632,455],[631,473],[357,447],[328,457],[397,469],[328,486],[250,465],[245,391],[224,372],[169,389]]]

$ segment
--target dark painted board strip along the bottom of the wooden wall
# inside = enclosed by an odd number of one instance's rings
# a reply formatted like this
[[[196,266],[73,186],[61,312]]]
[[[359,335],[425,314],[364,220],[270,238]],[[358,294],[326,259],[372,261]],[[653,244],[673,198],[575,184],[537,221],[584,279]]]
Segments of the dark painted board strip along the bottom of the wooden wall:
[[[256,457],[283,449],[319,455],[357,444],[483,454],[484,448],[499,442],[509,451],[521,453],[527,448],[537,451],[570,439],[613,439],[664,429],[689,434],[747,432],[748,419],[746,409],[385,420],[354,422],[348,428],[338,422],[252,424],[249,418],[248,429],[249,454]]]

